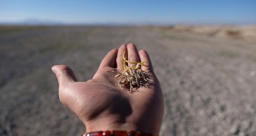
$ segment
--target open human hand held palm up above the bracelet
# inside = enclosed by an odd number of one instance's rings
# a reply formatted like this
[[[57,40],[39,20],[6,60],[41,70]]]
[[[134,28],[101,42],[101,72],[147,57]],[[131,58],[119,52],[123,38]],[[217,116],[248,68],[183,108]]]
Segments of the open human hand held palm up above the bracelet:
[[[139,92],[130,93],[129,89],[120,89],[115,84],[118,80],[114,78],[116,74],[107,72],[124,70],[124,51],[129,61],[147,60],[142,70],[150,70],[145,74],[153,80],[148,88],[138,88]],[[138,52],[134,44],[123,44],[119,50],[111,50],[87,82],[77,82],[73,71],[64,65],[55,65],[52,71],[58,78],[61,103],[81,119],[87,132],[138,130],[159,134],[164,112],[163,94],[145,50]]]

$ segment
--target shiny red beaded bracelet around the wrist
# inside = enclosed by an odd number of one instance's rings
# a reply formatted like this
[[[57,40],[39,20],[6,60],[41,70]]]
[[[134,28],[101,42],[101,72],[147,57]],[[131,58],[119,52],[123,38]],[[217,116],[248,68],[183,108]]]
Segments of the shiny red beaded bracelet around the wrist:
[[[97,132],[90,132],[86,133],[85,135],[82,136],[153,136],[150,133],[144,133],[140,131],[97,131]]]

